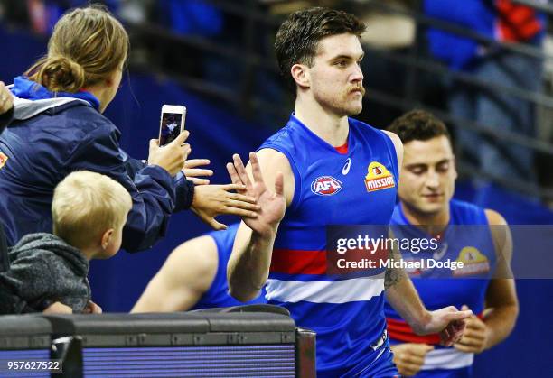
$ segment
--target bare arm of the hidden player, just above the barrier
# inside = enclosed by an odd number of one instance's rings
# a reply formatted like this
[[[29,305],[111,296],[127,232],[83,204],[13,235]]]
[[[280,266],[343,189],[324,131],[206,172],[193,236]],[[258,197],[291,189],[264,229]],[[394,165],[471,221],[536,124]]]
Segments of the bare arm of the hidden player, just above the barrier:
[[[217,244],[211,236],[196,237],[179,245],[148,283],[131,312],[191,309],[210,289],[218,263]]]

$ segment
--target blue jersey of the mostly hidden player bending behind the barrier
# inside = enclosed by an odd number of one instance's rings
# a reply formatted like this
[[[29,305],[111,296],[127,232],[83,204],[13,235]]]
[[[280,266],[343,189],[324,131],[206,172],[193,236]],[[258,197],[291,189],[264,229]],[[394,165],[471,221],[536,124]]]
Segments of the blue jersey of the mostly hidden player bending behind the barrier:
[[[267,303],[267,300],[265,300],[265,289],[261,291],[258,298],[245,303],[235,300],[229,294],[227,264],[229,263],[230,254],[232,253],[232,245],[234,244],[234,238],[238,231],[238,227],[239,224],[235,224],[229,226],[225,231],[212,231],[207,234],[211,236],[215,244],[217,244],[217,256],[219,263],[217,264],[217,272],[215,273],[215,278],[211,283],[210,289],[202,295],[202,298],[198,300],[192,309],[211,309],[216,307]]]

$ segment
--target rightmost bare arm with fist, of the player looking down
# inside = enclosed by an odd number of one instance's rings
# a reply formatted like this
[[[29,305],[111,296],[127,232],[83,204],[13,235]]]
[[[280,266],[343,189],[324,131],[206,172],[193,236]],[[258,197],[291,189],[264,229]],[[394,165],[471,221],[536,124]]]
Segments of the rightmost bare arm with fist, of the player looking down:
[[[467,353],[481,353],[501,343],[511,334],[519,315],[519,300],[511,274],[512,240],[507,222],[493,210],[485,210],[491,225],[493,244],[497,255],[495,278],[486,290],[483,320],[467,320],[463,338],[455,348]]]

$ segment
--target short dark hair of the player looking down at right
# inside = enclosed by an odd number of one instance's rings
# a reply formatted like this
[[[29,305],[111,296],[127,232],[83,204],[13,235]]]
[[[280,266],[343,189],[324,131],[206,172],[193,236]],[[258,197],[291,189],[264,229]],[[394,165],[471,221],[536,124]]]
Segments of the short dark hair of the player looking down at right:
[[[427,141],[442,135],[451,141],[445,124],[424,110],[411,110],[401,115],[389,125],[388,130],[398,134],[404,144],[411,141]]]

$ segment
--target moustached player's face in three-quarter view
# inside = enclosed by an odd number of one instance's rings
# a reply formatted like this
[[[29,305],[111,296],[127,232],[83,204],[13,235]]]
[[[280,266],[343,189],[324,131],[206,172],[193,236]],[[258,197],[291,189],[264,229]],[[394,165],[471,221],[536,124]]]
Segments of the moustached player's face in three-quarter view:
[[[356,35],[345,33],[319,41],[309,77],[314,98],[323,108],[339,116],[361,113],[365,94],[362,58]]]

